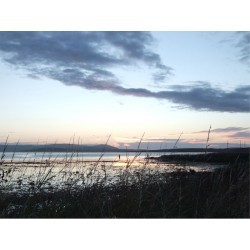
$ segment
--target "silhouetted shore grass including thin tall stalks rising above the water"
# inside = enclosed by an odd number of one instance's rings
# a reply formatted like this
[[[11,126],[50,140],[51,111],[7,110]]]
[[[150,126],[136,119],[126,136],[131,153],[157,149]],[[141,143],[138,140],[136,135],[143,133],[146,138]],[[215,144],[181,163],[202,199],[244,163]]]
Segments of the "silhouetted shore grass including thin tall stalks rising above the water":
[[[116,168],[115,162],[102,161],[105,150],[91,164],[79,161],[76,149],[60,167],[57,157],[49,157],[35,165],[17,167],[12,161],[9,168],[2,157],[0,217],[249,218],[249,156],[246,159],[238,155],[226,167],[212,172],[185,167],[167,171],[165,163],[158,160],[152,167],[150,159],[134,167],[142,140],[143,136],[135,157],[127,157],[115,175],[110,172]],[[195,159],[202,161],[204,157]],[[31,169],[32,175],[27,177]],[[14,171],[19,171],[15,178]]]

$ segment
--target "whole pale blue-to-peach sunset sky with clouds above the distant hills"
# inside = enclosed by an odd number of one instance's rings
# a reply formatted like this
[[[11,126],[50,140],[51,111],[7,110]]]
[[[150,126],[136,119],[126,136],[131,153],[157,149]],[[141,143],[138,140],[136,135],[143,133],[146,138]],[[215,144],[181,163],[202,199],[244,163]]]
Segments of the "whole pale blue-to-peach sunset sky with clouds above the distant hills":
[[[250,144],[250,32],[1,31],[0,79],[1,142]]]

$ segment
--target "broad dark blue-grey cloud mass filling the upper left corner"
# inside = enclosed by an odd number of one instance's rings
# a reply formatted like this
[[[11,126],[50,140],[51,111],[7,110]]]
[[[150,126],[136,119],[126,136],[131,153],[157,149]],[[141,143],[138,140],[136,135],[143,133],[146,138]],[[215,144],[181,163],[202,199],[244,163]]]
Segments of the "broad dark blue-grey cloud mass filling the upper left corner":
[[[116,82],[107,69],[142,63],[155,79],[165,80],[172,69],[151,50],[153,41],[148,32],[0,32],[5,61],[36,74],[76,73],[79,80]]]

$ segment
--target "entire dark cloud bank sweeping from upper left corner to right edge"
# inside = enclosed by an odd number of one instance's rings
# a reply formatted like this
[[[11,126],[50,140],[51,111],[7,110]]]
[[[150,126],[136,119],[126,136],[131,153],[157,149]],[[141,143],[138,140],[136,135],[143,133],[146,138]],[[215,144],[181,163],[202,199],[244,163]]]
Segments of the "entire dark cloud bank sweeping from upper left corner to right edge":
[[[45,76],[69,86],[168,100],[180,108],[249,112],[249,86],[231,92],[202,81],[158,92],[123,87],[114,68],[146,65],[154,81],[172,74],[172,68],[152,51],[153,43],[149,32],[0,32],[3,59],[33,78]]]

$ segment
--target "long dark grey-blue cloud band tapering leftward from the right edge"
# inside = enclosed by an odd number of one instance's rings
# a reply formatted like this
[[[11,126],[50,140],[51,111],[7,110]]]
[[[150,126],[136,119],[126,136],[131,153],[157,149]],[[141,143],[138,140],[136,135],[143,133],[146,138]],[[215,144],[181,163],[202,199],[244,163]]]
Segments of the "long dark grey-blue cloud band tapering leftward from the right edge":
[[[109,90],[120,95],[165,99],[195,110],[249,112],[250,108],[250,86],[238,87],[229,92],[213,88],[210,83],[190,86],[178,85],[174,89],[159,92],[152,92],[144,88],[123,88],[121,86],[115,86]]]

